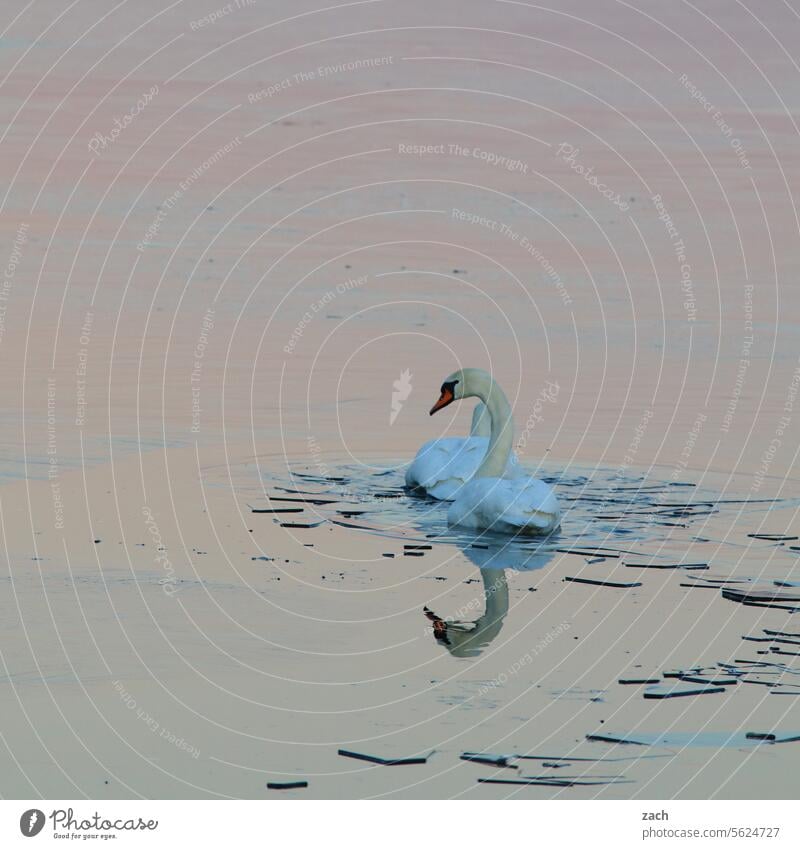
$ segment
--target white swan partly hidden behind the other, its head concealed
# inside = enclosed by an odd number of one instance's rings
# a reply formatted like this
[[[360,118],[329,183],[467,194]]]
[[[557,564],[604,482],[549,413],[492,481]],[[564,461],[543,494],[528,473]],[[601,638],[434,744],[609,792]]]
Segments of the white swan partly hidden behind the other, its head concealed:
[[[483,404],[478,404],[472,413],[469,436],[431,439],[419,449],[406,469],[406,486],[439,501],[452,501],[480,466],[489,447],[490,435],[488,411]],[[513,453],[509,456],[507,467],[507,474],[519,473],[519,464]]]

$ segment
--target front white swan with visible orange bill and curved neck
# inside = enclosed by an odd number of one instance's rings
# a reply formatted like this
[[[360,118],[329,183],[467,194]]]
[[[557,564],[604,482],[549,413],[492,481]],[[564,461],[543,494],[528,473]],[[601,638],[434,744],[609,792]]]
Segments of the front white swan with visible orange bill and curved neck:
[[[453,401],[480,398],[491,419],[486,456],[472,480],[464,485],[447,511],[447,523],[472,530],[540,535],[556,530],[561,511],[553,490],[544,481],[526,476],[507,477],[514,420],[503,390],[482,369],[460,369],[447,377],[431,415]]]

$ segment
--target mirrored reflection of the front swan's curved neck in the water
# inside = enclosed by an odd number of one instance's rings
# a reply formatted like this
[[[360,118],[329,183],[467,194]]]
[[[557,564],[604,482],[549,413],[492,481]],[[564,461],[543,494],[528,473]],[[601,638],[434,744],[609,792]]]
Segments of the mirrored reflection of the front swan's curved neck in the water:
[[[487,536],[482,538],[485,540]],[[453,657],[477,657],[502,630],[508,613],[506,569],[532,572],[544,568],[553,559],[552,551],[521,548],[507,539],[478,545],[481,547],[466,544],[463,551],[480,569],[483,614],[477,619],[442,619],[430,608],[423,608],[425,616],[433,623],[434,639]],[[480,604],[476,598],[459,612],[467,613]]]

